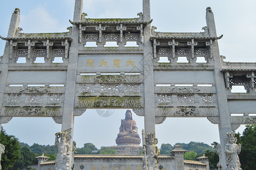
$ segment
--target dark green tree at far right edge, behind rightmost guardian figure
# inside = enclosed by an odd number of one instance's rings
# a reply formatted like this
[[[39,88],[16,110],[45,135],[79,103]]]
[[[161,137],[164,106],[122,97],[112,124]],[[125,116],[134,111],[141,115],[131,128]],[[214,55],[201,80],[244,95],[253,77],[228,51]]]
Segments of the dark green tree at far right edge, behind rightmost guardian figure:
[[[242,136],[236,135],[237,143],[242,144],[242,149],[238,155],[241,168],[243,170],[256,169],[256,125],[246,125]]]

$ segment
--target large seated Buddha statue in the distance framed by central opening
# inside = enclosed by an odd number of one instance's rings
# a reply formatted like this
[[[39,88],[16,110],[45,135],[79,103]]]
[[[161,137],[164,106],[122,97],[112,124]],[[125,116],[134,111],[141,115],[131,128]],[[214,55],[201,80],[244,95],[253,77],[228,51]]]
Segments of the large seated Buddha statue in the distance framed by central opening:
[[[127,110],[125,119],[121,120],[119,134],[117,134],[117,145],[140,145],[140,135],[137,133],[136,121],[132,119],[132,112]]]

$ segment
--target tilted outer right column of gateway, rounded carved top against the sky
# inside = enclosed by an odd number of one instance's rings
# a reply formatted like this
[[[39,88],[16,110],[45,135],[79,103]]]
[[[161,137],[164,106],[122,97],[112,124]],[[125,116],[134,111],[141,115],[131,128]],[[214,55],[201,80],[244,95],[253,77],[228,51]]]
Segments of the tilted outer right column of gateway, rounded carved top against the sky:
[[[206,9],[206,22],[211,37],[217,37],[215,21],[213,12],[210,7]],[[226,96],[226,88],[224,82],[224,76],[221,72],[222,63],[219,52],[219,45],[217,40],[213,41],[212,44],[213,60],[214,60],[214,76],[215,76],[215,87],[217,93],[217,104],[219,106],[219,135],[220,135],[220,148],[221,148],[221,160],[220,164],[223,169],[226,169],[226,157],[224,153],[226,133],[231,131],[230,115],[228,108],[228,100]]]

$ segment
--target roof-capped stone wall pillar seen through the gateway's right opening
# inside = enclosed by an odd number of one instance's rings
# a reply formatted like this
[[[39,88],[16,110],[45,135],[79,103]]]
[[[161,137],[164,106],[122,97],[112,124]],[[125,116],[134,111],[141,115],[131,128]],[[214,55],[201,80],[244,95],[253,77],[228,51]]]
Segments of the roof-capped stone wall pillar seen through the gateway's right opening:
[[[183,150],[182,146],[175,145],[174,150],[171,151],[171,154],[175,156],[175,169],[184,170],[184,154],[187,150]]]

